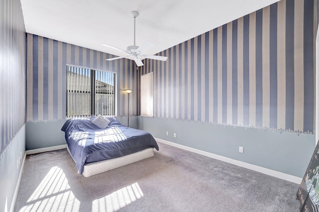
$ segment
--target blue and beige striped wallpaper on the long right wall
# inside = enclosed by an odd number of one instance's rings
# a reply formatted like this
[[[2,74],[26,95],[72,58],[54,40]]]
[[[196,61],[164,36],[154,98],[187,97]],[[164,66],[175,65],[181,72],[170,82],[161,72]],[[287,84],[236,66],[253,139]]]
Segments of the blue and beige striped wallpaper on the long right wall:
[[[144,60],[154,116],[314,132],[315,2],[281,0]]]

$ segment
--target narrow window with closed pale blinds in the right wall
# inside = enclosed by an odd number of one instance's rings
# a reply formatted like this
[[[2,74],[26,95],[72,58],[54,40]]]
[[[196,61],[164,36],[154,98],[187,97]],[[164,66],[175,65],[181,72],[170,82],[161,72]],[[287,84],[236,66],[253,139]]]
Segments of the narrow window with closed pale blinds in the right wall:
[[[141,116],[153,117],[153,72],[141,76]]]

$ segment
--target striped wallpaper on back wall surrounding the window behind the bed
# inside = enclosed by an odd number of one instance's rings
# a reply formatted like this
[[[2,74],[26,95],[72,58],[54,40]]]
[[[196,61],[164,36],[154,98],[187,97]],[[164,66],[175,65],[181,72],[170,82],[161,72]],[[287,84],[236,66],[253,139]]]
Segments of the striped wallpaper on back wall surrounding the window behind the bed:
[[[66,65],[117,72],[117,115],[126,116],[131,88],[130,116],[138,113],[139,72],[134,61],[106,61],[109,54],[27,33],[26,120],[66,117]]]

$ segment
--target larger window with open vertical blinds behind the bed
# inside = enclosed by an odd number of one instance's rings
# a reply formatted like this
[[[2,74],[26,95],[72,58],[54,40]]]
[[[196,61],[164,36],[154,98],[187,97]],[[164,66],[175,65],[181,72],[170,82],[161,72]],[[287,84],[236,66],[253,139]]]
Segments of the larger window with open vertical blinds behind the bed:
[[[116,115],[116,73],[67,66],[66,116]]]

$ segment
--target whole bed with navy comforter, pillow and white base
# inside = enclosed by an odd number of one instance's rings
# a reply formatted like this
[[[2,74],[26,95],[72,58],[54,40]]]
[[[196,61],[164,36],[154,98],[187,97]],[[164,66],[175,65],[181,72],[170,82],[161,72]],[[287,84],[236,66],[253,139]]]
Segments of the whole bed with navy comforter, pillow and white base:
[[[150,133],[126,127],[114,117],[73,118],[61,130],[84,177],[152,157],[154,148],[159,150]]]

